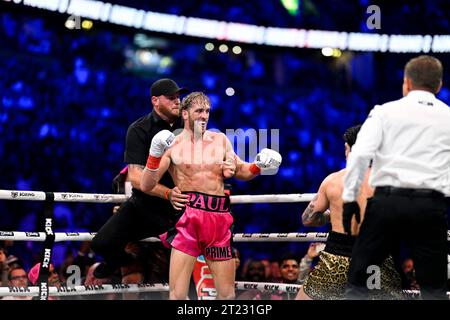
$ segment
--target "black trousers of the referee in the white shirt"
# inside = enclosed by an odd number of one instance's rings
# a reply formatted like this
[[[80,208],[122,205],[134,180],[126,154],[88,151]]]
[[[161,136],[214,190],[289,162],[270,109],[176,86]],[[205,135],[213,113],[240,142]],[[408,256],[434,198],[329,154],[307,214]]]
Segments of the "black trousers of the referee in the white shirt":
[[[407,194],[376,190],[369,200],[352,252],[347,298],[366,298],[371,275],[367,268],[380,266],[402,243],[411,250],[422,298],[447,299],[445,198],[436,192]]]

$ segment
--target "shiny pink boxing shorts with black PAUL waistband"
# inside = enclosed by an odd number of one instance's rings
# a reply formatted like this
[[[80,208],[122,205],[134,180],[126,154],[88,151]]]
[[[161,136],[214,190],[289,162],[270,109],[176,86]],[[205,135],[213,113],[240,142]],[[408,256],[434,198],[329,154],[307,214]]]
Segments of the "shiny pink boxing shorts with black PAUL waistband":
[[[204,255],[208,260],[229,260],[233,216],[230,198],[186,191],[189,202],[174,228],[160,236],[161,241],[190,256]]]

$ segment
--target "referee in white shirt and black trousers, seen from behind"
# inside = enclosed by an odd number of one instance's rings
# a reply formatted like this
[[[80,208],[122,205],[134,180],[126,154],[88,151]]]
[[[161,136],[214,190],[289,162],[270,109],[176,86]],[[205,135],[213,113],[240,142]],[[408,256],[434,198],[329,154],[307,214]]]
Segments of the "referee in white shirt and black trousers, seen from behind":
[[[347,233],[353,216],[359,216],[356,198],[371,160],[369,183],[375,195],[353,248],[349,299],[365,299],[370,289],[377,289],[369,266],[380,266],[399,244],[411,250],[422,298],[447,298],[450,109],[434,96],[442,74],[434,57],[410,60],[403,98],[375,106],[352,148],[342,196]]]

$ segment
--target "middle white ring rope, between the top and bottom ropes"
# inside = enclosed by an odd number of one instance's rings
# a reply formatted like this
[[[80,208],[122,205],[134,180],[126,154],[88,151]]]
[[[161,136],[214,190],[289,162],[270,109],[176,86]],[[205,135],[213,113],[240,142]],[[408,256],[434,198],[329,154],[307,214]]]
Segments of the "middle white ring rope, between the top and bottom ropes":
[[[61,241],[91,241],[95,232],[55,232],[55,242]],[[328,233],[325,232],[291,232],[291,233],[236,233],[234,242],[307,242],[326,241]],[[15,241],[45,241],[45,232],[0,231],[0,240]],[[158,238],[146,238],[143,242],[159,242]],[[449,231],[450,241],[450,231]]]

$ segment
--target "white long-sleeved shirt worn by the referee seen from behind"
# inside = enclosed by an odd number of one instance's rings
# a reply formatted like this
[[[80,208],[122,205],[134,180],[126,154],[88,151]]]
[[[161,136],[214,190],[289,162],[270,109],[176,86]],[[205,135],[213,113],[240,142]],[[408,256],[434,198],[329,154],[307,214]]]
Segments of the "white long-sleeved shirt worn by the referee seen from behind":
[[[355,201],[373,159],[372,187],[433,189],[450,194],[450,108],[427,91],[377,105],[358,133],[343,200]]]

